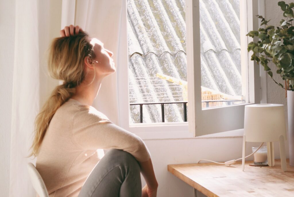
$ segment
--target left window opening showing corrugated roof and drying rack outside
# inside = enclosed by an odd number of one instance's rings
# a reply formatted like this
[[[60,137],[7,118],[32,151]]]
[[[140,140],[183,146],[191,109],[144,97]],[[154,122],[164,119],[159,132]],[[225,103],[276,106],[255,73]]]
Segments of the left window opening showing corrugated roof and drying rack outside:
[[[143,123],[162,122],[162,103],[187,102],[184,0],[127,0],[129,100]],[[160,103],[160,104],[155,104]],[[183,122],[183,103],[164,104],[165,122]],[[130,105],[139,123],[140,105]]]

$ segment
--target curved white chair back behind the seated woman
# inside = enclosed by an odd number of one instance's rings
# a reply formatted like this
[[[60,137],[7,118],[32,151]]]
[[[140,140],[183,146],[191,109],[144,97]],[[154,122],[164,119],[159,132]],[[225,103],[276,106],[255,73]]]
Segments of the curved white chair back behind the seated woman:
[[[49,197],[48,191],[46,189],[45,183],[39,174],[38,170],[32,163],[28,163],[28,171],[31,177],[31,182],[34,189],[39,194],[40,197]]]

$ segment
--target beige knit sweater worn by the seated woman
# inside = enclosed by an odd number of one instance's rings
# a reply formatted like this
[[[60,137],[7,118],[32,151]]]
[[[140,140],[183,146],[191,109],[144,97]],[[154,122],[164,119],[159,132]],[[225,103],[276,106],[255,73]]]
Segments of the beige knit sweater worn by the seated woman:
[[[94,107],[74,99],[59,107],[36,161],[49,196],[78,196],[86,178],[104,156],[103,149],[124,150],[138,161],[150,159],[141,138],[113,124]]]

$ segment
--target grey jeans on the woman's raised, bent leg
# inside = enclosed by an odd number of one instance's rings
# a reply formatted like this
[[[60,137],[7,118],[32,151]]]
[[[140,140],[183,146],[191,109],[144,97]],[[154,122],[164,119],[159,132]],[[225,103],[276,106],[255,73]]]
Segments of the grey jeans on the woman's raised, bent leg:
[[[138,161],[128,152],[109,150],[92,170],[78,197],[141,197]]]

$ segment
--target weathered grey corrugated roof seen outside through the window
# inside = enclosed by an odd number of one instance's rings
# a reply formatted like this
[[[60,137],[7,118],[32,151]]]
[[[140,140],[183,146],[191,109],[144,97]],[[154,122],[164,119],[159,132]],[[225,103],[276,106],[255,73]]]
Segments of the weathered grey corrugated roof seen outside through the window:
[[[202,86],[241,95],[239,0],[200,0]],[[183,101],[187,81],[185,0],[127,0],[130,103]],[[140,122],[139,105],[130,119]],[[183,105],[165,105],[166,122],[183,122]],[[143,105],[143,122],[161,122],[160,105]]]

